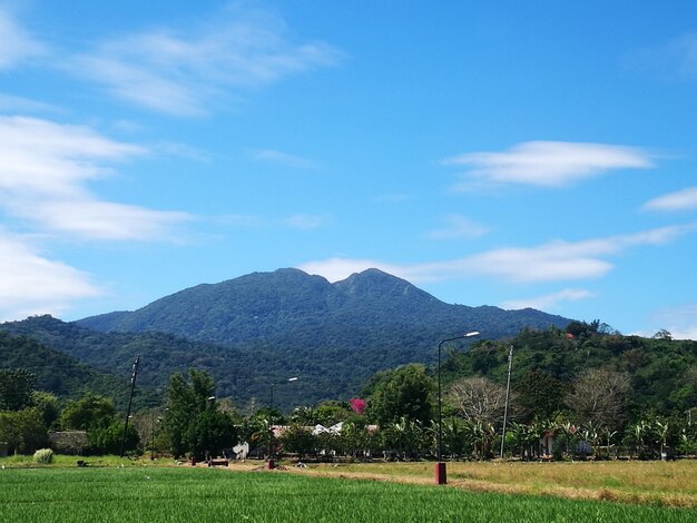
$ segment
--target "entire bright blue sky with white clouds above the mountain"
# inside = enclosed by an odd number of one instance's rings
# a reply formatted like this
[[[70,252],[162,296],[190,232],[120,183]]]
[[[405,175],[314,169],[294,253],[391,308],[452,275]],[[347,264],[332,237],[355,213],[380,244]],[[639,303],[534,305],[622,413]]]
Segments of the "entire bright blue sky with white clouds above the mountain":
[[[379,267],[448,303],[697,339],[695,20],[0,0],[0,319]]]

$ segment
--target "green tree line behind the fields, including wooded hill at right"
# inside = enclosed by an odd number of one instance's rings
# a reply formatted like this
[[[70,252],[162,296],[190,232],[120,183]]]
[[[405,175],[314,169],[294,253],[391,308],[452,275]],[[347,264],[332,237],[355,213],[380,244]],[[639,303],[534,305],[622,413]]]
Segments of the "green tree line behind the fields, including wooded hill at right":
[[[573,322],[566,329],[482,341],[464,352],[452,345],[441,367],[446,457],[482,460],[503,452],[521,458],[652,458],[697,452],[695,342],[673,341],[667,332],[621,336],[599,322]],[[203,458],[244,441],[262,456],[429,458],[438,434],[436,371],[410,364],[380,372],[353,402],[296,406],[285,414],[265,402],[243,413],[230,398],[216,396],[210,374],[175,373],[161,405],[137,412],[126,437],[112,399],[86,393],[61,402],[36,391],[30,373],[1,371],[0,442],[10,452],[32,452],[48,444],[50,428],[82,431],[79,451],[92,453],[125,447]],[[341,431],[314,430],[340,423]],[[285,430],[277,435],[279,425]]]

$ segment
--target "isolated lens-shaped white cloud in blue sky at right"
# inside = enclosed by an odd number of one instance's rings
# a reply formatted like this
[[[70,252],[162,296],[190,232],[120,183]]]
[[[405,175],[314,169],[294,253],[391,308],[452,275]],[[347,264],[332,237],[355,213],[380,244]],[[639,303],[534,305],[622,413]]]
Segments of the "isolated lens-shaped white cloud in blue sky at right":
[[[605,144],[528,141],[502,152],[469,152],[445,164],[470,167],[465,190],[472,180],[558,187],[615,169],[652,167],[641,149]]]

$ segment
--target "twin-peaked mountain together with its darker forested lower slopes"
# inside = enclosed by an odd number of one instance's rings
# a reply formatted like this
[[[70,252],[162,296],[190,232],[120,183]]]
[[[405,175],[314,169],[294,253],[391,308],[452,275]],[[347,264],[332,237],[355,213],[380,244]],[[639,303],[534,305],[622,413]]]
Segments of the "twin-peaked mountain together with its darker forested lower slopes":
[[[139,354],[140,383],[160,391],[173,372],[203,368],[216,378],[217,394],[238,406],[266,402],[271,384],[297,375],[300,382],[275,391],[275,404],[287,407],[347,398],[377,371],[432,364],[439,339],[460,333],[495,339],[569,322],[533,309],[449,305],[377,269],[334,284],[278,269],[198,285],[135,312],[73,324],[33,317],[0,330],[114,373],[128,372]]]

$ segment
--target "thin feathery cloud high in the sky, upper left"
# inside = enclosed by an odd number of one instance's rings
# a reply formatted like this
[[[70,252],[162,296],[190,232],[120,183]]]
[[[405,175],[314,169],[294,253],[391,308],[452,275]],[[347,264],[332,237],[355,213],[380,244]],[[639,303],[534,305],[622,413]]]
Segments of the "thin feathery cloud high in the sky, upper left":
[[[143,108],[200,116],[219,97],[337,61],[340,52],[327,43],[293,41],[288,33],[277,16],[230,8],[215,21],[193,21],[185,30],[101,42],[67,67]]]

